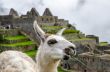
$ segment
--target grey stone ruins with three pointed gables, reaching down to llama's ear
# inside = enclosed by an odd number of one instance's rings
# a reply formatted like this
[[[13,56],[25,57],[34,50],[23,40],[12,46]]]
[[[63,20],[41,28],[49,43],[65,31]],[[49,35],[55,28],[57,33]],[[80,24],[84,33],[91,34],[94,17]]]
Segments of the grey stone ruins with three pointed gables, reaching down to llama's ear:
[[[42,26],[67,26],[68,20],[58,19],[53,16],[49,8],[46,8],[43,15],[40,16],[35,8],[32,8],[26,15],[19,16],[17,11],[10,9],[9,15],[0,15],[0,26],[5,29],[20,28],[22,31],[34,37],[33,22],[37,20],[38,24]],[[33,33],[33,34],[32,34]],[[33,36],[32,36],[33,35]]]

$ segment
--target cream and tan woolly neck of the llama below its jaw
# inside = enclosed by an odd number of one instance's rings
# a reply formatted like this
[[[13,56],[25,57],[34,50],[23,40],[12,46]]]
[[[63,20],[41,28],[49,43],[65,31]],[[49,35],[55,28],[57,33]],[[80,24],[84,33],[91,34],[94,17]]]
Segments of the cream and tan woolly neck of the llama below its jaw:
[[[37,72],[57,72],[60,60],[51,60],[49,57],[38,53],[37,55]]]

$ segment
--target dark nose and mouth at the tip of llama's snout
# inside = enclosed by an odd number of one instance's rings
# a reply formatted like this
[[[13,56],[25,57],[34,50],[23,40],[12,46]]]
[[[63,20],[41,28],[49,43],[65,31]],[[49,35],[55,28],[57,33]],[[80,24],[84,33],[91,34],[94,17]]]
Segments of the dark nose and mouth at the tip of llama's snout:
[[[71,57],[71,55],[76,55],[76,49],[73,46],[69,46],[64,49],[64,53],[65,55],[63,59],[68,60]]]

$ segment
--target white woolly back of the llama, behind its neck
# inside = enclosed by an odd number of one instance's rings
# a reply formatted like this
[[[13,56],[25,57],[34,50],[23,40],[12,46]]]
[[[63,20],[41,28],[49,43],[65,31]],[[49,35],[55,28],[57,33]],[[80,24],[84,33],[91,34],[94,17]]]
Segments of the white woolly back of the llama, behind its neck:
[[[22,52],[5,51],[0,54],[0,72],[36,72],[35,62]]]

